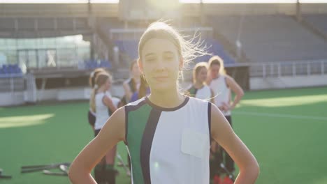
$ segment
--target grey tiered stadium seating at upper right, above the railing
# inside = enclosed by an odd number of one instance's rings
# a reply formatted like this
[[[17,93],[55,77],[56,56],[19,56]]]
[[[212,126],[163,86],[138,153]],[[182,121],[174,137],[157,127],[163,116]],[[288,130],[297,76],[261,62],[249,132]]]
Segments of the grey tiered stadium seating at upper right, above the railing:
[[[240,33],[242,49],[252,62],[303,61],[327,58],[327,43],[287,15],[210,17],[215,31],[235,43]],[[326,25],[326,24],[325,24]]]

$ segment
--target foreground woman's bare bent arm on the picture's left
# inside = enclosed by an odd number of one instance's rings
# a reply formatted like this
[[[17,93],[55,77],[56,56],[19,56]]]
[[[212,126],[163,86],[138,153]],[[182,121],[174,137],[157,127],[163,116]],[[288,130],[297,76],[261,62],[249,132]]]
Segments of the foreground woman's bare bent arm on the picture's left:
[[[75,158],[69,168],[68,176],[72,183],[96,183],[91,176],[95,165],[117,142],[125,137],[125,110],[118,109],[97,135]]]

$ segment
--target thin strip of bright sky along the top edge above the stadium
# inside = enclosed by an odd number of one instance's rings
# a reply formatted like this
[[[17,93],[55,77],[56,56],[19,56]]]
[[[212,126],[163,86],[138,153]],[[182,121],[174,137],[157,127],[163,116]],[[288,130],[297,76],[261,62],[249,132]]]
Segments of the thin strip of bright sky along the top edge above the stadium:
[[[0,3],[87,3],[88,0],[0,0]],[[162,1],[162,0],[158,0]],[[118,3],[119,0],[91,0],[92,3]],[[200,0],[180,0],[199,3]],[[327,3],[327,0],[300,0],[301,3]],[[203,3],[296,3],[296,0],[203,0]]]

